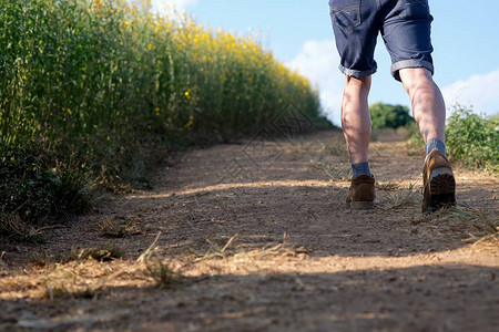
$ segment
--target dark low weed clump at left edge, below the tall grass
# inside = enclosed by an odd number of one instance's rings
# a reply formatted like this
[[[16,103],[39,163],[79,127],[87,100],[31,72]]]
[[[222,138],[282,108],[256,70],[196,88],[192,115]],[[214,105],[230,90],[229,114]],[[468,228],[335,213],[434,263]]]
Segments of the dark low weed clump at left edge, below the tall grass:
[[[37,148],[0,142],[0,236],[43,241],[49,217],[82,212],[91,201],[83,168],[57,165]]]

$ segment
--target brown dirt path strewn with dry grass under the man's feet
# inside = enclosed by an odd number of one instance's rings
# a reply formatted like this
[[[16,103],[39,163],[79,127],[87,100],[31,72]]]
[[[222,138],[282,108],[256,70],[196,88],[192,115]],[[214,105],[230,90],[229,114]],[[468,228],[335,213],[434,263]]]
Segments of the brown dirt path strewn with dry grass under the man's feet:
[[[499,245],[470,241],[497,177],[457,169],[459,210],[422,217],[422,156],[384,136],[377,208],[353,212],[338,133],[259,138],[184,154],[45,245],[2,245],[0,330],[497,331]]]

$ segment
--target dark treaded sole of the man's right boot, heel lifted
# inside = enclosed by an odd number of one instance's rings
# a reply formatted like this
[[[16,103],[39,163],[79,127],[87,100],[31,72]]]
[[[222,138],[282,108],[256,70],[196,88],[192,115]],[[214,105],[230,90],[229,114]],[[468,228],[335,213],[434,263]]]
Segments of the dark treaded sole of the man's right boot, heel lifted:
[[[456,179],[450,168],[437,168],[429,179],[429,204],[426,212],[432,212],[456,205]]]

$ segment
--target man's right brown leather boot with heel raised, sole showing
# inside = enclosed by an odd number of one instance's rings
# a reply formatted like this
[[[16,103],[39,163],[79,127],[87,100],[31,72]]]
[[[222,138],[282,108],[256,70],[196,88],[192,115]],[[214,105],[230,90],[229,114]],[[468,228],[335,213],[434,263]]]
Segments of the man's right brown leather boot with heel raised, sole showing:
[[[456,205],[456,179],[449,160],[438,149],[426,158],[422,168],[422,212]]]

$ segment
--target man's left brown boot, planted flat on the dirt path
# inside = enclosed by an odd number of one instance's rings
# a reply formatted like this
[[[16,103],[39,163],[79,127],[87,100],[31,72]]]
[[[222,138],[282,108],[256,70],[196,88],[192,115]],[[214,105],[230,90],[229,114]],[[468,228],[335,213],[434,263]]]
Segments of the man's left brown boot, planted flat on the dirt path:
[[[369,175],[359,175],[352,179],[352,186],[347,197],[347,207],[354,210],[374,208],[375,178]]]

